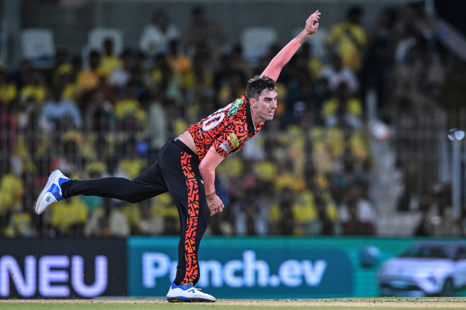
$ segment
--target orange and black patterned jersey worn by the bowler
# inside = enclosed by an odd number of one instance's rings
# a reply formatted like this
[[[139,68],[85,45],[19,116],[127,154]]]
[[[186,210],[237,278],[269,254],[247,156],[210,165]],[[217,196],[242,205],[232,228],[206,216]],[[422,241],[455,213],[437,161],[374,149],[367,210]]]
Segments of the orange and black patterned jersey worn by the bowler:
[[[188,131],[196,144],[199,160],[202,160],[211,146],[223,157],[238,151],[261,130],[262,125],[264,123],[254,126],[246,95],[242,95],[228,106],[192,124]]]

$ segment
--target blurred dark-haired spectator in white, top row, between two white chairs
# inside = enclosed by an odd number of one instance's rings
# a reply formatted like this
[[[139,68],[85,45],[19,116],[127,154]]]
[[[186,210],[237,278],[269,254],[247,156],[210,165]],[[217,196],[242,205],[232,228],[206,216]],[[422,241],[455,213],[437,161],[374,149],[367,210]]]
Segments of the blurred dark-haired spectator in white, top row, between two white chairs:
[[[147,56],[164,54],[168,42],[180,38],[177,27],[170,23],[165,11],[157,10],[152,14],[152,23],[147,25],[139,39],[139,48]]]

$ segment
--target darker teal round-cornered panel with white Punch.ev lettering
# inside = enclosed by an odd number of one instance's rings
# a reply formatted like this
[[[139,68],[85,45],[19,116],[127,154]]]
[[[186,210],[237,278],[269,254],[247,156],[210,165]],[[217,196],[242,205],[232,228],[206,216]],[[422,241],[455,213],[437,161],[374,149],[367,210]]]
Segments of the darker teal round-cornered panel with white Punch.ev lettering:
[[[175,278],[178,240],[135,237],[129,247],[129,294],[163,296]],[[219,298],[348,296],[349,256],[292,238],[206,238],[197,286]]]

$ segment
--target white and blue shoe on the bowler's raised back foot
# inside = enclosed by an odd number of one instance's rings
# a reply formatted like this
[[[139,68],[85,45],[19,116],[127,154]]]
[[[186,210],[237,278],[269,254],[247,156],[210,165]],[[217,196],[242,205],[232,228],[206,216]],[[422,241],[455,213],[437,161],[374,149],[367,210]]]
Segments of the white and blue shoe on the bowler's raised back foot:
[[[70,179],[63,175],[60,170],[55,169],[52,171],[47,180],[47,184],[44,189],[42,189],[39,198],[35,202],[35,213],[41,214],[53,202],[63,200],[62,184],[69,180]]]

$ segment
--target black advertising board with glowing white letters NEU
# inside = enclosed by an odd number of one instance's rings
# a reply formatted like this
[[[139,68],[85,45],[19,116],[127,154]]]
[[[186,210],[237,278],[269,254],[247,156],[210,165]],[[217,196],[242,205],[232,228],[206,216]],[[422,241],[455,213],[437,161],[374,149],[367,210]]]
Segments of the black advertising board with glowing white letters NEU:
[[[126,239],[1,239],[0,297],[126,294]]]

